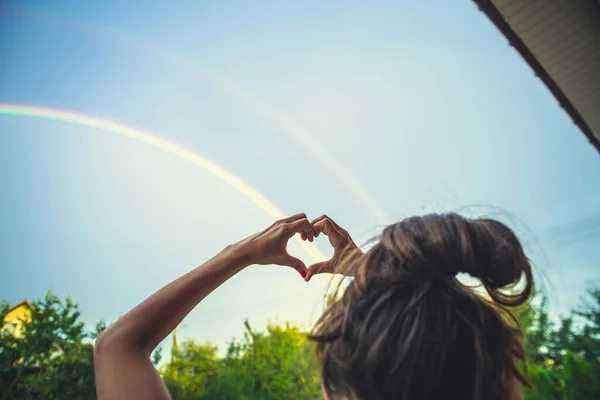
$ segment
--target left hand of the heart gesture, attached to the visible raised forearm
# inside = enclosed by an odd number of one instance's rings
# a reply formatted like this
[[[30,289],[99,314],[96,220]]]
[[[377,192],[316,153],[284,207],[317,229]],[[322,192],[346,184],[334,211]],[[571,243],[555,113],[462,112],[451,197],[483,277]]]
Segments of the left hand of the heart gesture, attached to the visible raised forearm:
[[[314,236],[313,226],[306,214],[296,214],[276,221],[264,231],[234,246],[248,265],[285,265],[294,268],[304,278],[307,274],[306,265],[287,252],[287,243],[296,233],[301,233],[303,237]]]

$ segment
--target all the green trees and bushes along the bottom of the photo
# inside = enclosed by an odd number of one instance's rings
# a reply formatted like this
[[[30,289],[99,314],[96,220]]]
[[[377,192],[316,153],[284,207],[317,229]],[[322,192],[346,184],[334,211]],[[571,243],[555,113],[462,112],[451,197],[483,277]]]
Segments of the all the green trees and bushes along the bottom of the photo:
[[[328,302],[335,298],[330,296]],[[0,330],[0,399],[95,398],[93,347],[106,329],[100,321],[86,333],[78,306],[51,292],[33,302],[23,336]],[[0,323],[8,309],[0,303]],[[528,375],[534,389],[525,400],[600,399],[600,289],[566,318],[553,321],[547,303],[519,310],[526,333]],[[152,355],[160,363],[161,349]],[[174,400],[321,399],[319,368],[305,333],[291,325],[256,331],[245,322],[242,338],[222,357],[210,343],[180,343],[160,368]]]

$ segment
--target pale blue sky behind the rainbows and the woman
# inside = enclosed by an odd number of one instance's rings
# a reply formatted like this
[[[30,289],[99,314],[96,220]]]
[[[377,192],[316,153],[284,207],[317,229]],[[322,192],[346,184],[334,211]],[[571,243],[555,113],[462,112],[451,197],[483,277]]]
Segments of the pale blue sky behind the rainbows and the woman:
[[[0,3],[4,107],[126,127],[0,111],[0,299],[52,289],[90,328],[114,321],[273,206],[358,243],[414,214],[497,217],[554,312],[579,304],[600,279],[599,154],[474,2],[294,3]],[[290,247],[314,262],[305,250]],[[327,285],[251,267],[179,335],[223,347],[245,318],[310,327]]]

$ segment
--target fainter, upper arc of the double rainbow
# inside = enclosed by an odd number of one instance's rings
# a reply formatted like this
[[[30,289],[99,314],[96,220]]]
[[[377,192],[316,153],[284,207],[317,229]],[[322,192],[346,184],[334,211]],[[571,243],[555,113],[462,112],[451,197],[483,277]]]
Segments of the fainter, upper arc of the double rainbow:
[[[214,71],[201,68],[194,62],[176,54],[169,52],[163,48],[157,47],[151,43],[137,39],[136,37],[127,34],[126,32],[109,26],[99,25],[91,21],[78,20],[62,14],[53,13],[49,10],[32,8],[22,4],[12,4],[11,9],[27,13],[29,16],[42,17],[47,21],[54,21],[74,27],[84,32],[95,34],[100,37],[107,37],[119,44],[127,45],[138,51],[142,51],[152,57],[163,60],[171,65],[184,71],[190,76],[207,81],[229,95],[232,99],[252,110],[257,115],[266,119],[273,125],[277,126],[282,133],[292,138],[307,151],[315,156],[321,163],[326,165],[327,170],[331,171],[357,198],[361,203],[373,214],[378,223],[388,223],[388,217],[382,207],[373,198],[362,183],[354,176],[347,168],[345,168],[335,157],[323,148],[318,142],[313,140],[312,135],[303,127],[294,122],[290,117],[273,108],[248,90],[240,85],[226,79],[224,76],[215,73]]]

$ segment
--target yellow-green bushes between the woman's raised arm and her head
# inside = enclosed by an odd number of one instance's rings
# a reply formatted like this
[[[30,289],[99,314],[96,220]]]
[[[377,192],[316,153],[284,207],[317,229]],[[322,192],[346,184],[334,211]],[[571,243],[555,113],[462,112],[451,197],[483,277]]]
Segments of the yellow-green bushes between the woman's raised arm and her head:
[[[313,348],[300,329],[269,325],[255,332],[247,321],[245,328],[222,358],[210,343],[184,341],[161,369],[173,399],[322,398]]]

